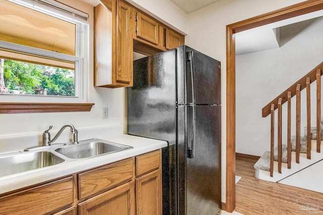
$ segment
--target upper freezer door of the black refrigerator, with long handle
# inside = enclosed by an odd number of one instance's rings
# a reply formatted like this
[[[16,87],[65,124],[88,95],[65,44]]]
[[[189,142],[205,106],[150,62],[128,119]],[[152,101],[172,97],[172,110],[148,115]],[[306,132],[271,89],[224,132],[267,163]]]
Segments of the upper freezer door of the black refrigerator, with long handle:
[[[221,62],[188,46],[177,48],[178,104],[221,104]]]

